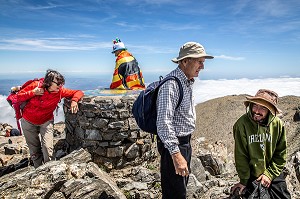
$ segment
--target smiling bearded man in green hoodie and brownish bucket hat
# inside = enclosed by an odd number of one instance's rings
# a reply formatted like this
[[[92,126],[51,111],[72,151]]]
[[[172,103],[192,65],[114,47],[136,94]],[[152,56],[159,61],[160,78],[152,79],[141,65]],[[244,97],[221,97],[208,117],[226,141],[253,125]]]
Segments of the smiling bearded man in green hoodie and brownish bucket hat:
[[[248,198],[255,182],[265,188],[269,198],[291,198],[285,182],[287,141],[284,123],[278,117],[278,95],[260,89],[255,96],[246,97],[246,113],[233,126],[235,167],[240,182],[231,193]]]

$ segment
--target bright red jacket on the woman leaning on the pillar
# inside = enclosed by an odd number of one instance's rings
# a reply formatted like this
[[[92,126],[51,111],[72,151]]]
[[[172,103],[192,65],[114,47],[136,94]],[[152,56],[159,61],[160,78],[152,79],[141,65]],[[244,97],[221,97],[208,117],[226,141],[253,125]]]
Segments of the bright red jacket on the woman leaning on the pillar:
[[[64,87],[61,87],[57,93],[50,93],[47,89],[44,89],[43,95],[35,95],[33,89],[37,86],[41,88],[43,81],[43,79],[34,81],[17,94],[18,100],[28,100],[23,109],[23,118],[35,125],[52,120],[54,118],[53,112],[62,98],[71,98],[72,101],[78,102],[84,95],[80,90],[71,90]]]

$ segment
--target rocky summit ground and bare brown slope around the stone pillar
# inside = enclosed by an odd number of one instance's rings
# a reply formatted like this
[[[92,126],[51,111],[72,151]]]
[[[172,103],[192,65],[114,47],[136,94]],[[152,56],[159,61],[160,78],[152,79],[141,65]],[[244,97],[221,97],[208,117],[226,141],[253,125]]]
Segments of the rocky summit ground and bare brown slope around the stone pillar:
[[[245,97],[225,96],[196,106],[197,126],[192,136],[192,173],[187,198],[231,198],[230,187],[238,181],[233,158],[232,126],[246,111],[243,105]],[[113,103],[109,101],[109,104],[111,110]],[[121,106],[120,103],[118,106]],[[300,97],[281,97],[279,108],[283,111],[280,117],[285,122],[288,140],[288,162],[284,173],[292,198],[300,198]],[[106,120],[109,125],[110,119]],[[114,118],[112,122],[116,120],[119,119]],[[84,138],[89,137],[86,132],[91,130],[87,128],[84,131]],[[109,132],[113,130],[110,128]],[[132,148],[133,142],[144,146],[144,140],[141,141],[141,136],[133,136],[134,132],[131,132],[130,139],[125,139],[126,146]],[[67,133],[64,123],[55,125],[56,160],[37,169],[30,163],[23,136],[1,137],[0,198],[161,198],[159,156],[155,144],[151,151],[156,155],[150,159],[141,161],[143,154],[134,158],[130,156],[138,164],[124,163],[124,166],[114,168],[94,161],[92,147],[82,145],[69,150]],[[125,131],[123,134],[126,137]],[[101,138],[101,141],[105,139]],[[119,142],[122,143],[123,139]],[[124,154],[128,148],[124,148]]]

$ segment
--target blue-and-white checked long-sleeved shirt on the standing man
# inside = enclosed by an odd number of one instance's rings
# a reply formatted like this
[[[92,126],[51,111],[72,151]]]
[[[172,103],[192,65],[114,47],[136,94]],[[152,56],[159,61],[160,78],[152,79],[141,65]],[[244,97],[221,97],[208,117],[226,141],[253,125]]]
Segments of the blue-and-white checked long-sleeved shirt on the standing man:
[[[183,99],[179,100],[179,86],[175,80],[165,82],[157,96],[157,134],[170,154],[179,152],[177,137],[190,135],[195,130],[196,113],[193,97],[194,79],[188,80],[183,71],[177,67],[167,76],[179,78],[183,87]]]

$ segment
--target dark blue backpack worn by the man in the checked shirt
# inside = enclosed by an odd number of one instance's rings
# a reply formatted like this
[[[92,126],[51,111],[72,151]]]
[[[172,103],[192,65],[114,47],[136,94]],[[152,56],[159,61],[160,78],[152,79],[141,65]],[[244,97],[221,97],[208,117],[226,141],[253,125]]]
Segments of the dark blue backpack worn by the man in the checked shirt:
[[[156,99],[159,87],[168,80],[175,80],[179,86],[179,100],[176,109],[181,104],[183,98],[183,88],[180,80],[175,76],[168,76],[159,81],[153,82],[147,88],[140,92],[132,107],[132,114],[137,125],[145,132],[157,135],[157,111]]]

